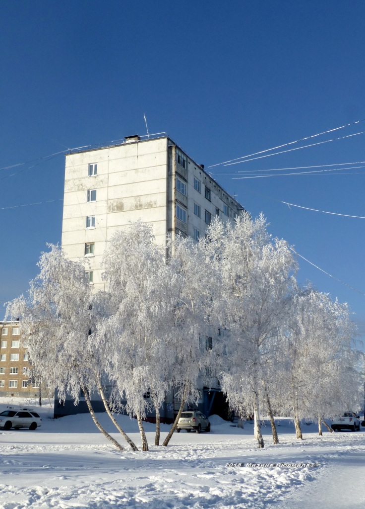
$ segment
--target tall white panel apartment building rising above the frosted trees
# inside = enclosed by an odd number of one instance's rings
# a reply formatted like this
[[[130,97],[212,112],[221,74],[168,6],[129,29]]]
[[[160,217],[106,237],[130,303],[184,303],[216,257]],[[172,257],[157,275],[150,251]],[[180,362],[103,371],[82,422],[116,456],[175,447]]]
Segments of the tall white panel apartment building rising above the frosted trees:
[[[88,258],[95,290],[104,288],[100,265],[108,240],[130,221],[151,224],[164,244],[167,234],[198,239],[214,217],[233,220],[242,210],[165,133],[66,155],[62,248],[72,260]]]

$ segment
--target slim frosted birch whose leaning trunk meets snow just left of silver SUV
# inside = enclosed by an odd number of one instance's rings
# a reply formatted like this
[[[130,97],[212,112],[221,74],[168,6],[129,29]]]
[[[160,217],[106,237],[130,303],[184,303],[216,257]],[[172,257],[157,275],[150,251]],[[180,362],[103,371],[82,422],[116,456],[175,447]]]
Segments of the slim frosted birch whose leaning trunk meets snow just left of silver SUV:
[[[214,331],[218,330],[213,301],[220,292],[219,274],[209,256],[207,242],[194,243],[179,236],[171,246],[169,267],[178,290],[170,342],[174,351],[171,380],[180,408],[163,445],[168,445],[187,403],[197,404],[198,381],[212,368]]]

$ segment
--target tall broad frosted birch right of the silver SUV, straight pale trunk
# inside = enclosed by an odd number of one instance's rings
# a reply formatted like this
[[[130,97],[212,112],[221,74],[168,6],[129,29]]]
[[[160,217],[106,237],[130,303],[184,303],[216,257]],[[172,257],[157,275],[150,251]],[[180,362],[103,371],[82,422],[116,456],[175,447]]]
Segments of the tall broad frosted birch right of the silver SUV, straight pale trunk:
[[[254,436],[263,447],[260,400],[270,407],[276,342],[287,313],[295,262],[285,241],[270,238],[262,215],[252,220],[245,214],[234,225],[216,221],[209,238],[222,277],[222,301],[216,313],[229,330],[222,390],[236,411],[253,413]]]

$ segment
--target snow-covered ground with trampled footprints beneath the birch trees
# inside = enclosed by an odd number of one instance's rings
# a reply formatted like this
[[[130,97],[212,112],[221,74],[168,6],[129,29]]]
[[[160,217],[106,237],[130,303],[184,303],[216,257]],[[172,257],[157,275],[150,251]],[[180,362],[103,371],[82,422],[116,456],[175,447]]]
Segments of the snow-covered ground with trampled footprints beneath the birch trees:
[[[0,409],[5,408],[0,400]],[[37,408],[33,405],[33,408]],[[211,433],[175,433],[168,447],[154,443],[154,425],[145,424],[150,451],[117,451],[87,414],[53,420],[53,409],[37,408],[36,431],[0,431],[0,509],[69,508],[261,508],[321,509],[362,507],[365,503],[365,428],[318,436],[304,425],[278,419],[279,445],[270,425],[265,448],[257,449],[253,425],[231,426],[212,416]],[[106,414],[108,432],[124,445]],[[140,444],[137,422],[118,416]],[[162,440],[169,429],[162,426]],[[229,465],[238,463],[240,465]],[[256,464],[247,466],[247,463]],[[263,466],[278,464],[281,466]],[[316,466],[288,466],[288,464]],[[243,465],[241,465],[243,464]]]

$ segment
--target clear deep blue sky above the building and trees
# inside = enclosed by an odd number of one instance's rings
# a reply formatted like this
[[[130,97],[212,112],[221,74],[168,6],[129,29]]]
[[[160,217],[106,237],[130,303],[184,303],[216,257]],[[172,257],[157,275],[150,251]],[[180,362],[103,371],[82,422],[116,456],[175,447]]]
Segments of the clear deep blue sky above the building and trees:
[[[365,119],[360,0],[0,6],[0,168],[30,161],[0,171],[0,304],[26,291],[46,242],[61,239],[64,155],[44,156],[146,134],[144,113],[150,133],[167,132],[206,168]],[[279,150],[361,131],[365,122]],[[208,168],[274,236],[355,288],[300,259],[298,279],[348,302],[362,333],[365,219],[282,202],[365,216],[365,163],[348,164],[365,161],[364,141]]]

